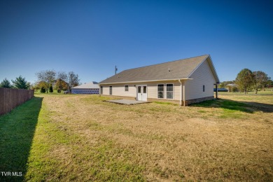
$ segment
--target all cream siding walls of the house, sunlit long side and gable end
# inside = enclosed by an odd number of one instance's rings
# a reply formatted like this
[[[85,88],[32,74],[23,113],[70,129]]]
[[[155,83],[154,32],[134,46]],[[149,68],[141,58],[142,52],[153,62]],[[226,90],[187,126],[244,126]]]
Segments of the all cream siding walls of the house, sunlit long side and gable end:
[[[209,63],[204,61],[193,73],[190,78],[193,80],[183,80],[182,100],[185,100],[185,105],[193,104],[196,102],[202,102],[208,99],[214,99],[214,84],[216,79],[211,71]],[[167,83],[174,84],[174,99],[167,99]],[[164,99],[158,98],[158,84],[164,84]],[[129,91],[125,92],[125,85],[129,85]],[[112,84],[112,85],[100,85],[103,86],[103,93],[109,95],[109,86],[112,86],[113,96],[122,97],[137,97],[136,85],[147,85],[147,98],[148,101],[151,99],[157,100],[169,100],[179,101],[181,98],[181,85],[178,80],[171,81],[158,81],[158,82],[147,82],[147,83],[130,83],[130,84]],[[203,92],[204,85],[204,92]],[[183,98],[185,97],[185,98]]]

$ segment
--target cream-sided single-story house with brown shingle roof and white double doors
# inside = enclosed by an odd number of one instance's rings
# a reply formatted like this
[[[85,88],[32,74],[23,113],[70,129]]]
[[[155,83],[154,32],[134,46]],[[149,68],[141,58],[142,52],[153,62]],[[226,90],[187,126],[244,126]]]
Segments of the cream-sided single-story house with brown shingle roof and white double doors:
[[[141,101],[174,100],[187,106],[214,99],[218,85],[210,55],[121,71],[99,83],[100,94]],[[217,92],[216,92],[217,97]]]

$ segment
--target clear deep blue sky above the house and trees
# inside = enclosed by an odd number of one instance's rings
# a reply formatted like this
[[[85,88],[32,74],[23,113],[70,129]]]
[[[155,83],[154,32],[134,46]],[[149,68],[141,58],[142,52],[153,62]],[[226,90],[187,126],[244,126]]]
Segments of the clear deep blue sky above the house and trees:
[[[270,1],[0,1],[0,81],[45,69],[81,83],[211,55],[218,77],[241,69],[273,78]]]

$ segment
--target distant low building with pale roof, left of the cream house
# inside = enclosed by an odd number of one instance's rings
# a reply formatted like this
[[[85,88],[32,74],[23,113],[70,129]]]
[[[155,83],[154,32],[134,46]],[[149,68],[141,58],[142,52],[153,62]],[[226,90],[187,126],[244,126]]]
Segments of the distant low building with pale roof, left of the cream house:
[[[78,85],[71,88],[72,94],[99,94],[99,85],[97,82],[92,81],[83,85]]]

